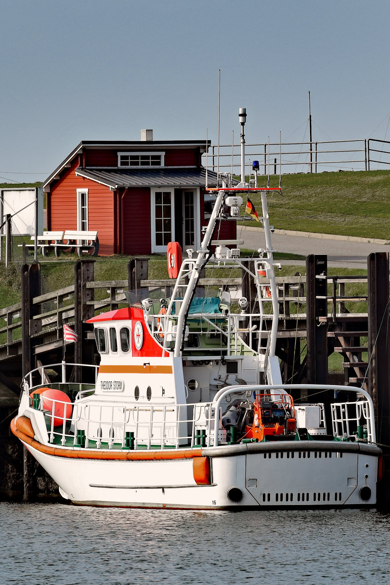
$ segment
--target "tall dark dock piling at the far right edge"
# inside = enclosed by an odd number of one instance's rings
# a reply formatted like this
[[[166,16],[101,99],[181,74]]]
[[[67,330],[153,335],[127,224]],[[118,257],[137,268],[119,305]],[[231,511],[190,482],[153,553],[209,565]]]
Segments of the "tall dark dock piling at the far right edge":
[[[377,443],[383,452],[384,477],[378,483],[378,504],[390,504],[390,335],[389,254],[372,253],[368,269],[368,391],[375,409]]]

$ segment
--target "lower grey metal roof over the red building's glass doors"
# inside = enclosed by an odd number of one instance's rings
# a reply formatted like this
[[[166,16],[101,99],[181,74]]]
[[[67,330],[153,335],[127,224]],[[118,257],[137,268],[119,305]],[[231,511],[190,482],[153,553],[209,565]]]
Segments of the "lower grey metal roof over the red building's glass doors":
[[[112,189],[118,187],[205,187],[206,169],[200,168],[77,168],[75,174]],[[208,185],[216,186],[217,174],[208,170]]]

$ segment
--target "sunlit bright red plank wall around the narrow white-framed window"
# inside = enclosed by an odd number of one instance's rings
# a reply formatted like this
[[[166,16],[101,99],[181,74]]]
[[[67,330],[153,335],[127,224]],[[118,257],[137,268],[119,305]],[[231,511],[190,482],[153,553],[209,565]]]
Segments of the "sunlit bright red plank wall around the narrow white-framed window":
[[[115,229],[113,217],[113,192],[82,177],[76,177],[73,167],[51,184],[50,230],[77,229],[77,189],[88,189],[88,229],[98,230],[99,255],[109,256],[114,252]]]

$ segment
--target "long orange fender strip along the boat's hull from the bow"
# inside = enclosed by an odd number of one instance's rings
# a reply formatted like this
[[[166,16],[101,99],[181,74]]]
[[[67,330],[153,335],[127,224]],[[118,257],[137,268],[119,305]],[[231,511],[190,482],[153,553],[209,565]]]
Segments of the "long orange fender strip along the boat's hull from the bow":
[[[54,447],[51,445],[42,445],[36,441],[32,436],[26,435],[22,429],[26,428],[26,423],[23,421],[27,417],[15,418],[11,421],[11,431],[13,434],[26,443],[46,455],[56,457],[68,457],[69,459],[101,459],[101,460],[119,460],[119,461],[158,461],[158,460],[172,460],[172,459],[194,459],[194,457],[202,456],[202,449],[178,449],[174,451],[103,451],[91,449],[64,449]],[[29,421],[30,422],[30,421]]]

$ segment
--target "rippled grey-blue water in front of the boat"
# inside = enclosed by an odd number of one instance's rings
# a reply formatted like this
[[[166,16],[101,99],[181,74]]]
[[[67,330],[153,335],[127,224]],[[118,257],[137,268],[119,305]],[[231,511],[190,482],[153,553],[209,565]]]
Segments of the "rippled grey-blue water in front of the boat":
[[[1,583],[388,583],[390,514],[0,503]]]

